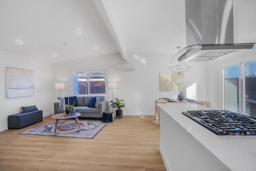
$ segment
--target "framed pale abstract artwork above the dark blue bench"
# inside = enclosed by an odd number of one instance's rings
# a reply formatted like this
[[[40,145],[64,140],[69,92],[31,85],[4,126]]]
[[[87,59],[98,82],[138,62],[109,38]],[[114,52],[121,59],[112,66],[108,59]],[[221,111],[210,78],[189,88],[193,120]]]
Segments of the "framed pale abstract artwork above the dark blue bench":
[[[6,98],[35,95],[35,72],[6,67]]]

